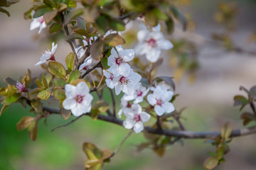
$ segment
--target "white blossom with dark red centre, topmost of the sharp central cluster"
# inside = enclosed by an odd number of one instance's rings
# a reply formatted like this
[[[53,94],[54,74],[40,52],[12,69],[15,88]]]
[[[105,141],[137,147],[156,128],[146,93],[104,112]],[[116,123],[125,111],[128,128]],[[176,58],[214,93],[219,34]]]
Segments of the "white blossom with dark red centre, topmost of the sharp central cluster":
[[[116,49],[117,51],[112,48],[111,55],[107,60],[107,64],[110,66],[110,72],[112,72],[115,77],[120,74],[127,77],[131,70],[127,62],[134,58],[134,50],[123,50],[121,46],[117,46]]]

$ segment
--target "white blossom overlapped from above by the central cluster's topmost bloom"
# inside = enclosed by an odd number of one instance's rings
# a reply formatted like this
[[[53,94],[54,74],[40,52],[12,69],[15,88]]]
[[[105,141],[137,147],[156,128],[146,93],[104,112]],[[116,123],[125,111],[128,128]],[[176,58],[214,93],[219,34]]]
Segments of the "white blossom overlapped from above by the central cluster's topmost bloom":
[[[117,95],[120,94],[121,91],[124,94],[132,95],[134,94],[135,86],[142,79],[142,76],[138,73],[134,72],[132,69],[127,77],[119,75],[119,77],[114,77],[114,90]]]

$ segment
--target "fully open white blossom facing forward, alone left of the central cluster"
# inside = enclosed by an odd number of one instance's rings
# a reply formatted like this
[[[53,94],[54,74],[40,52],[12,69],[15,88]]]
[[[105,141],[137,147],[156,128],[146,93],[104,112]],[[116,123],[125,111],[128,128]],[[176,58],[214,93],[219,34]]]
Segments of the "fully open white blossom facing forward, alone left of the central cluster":
[[[63,108],[71,110],[75,116],[89,113],[91,111],[92,95],[89,93],[85,82],[80,82],[77,86],[71,84],[65,85],[65,100],[63,101]]]

